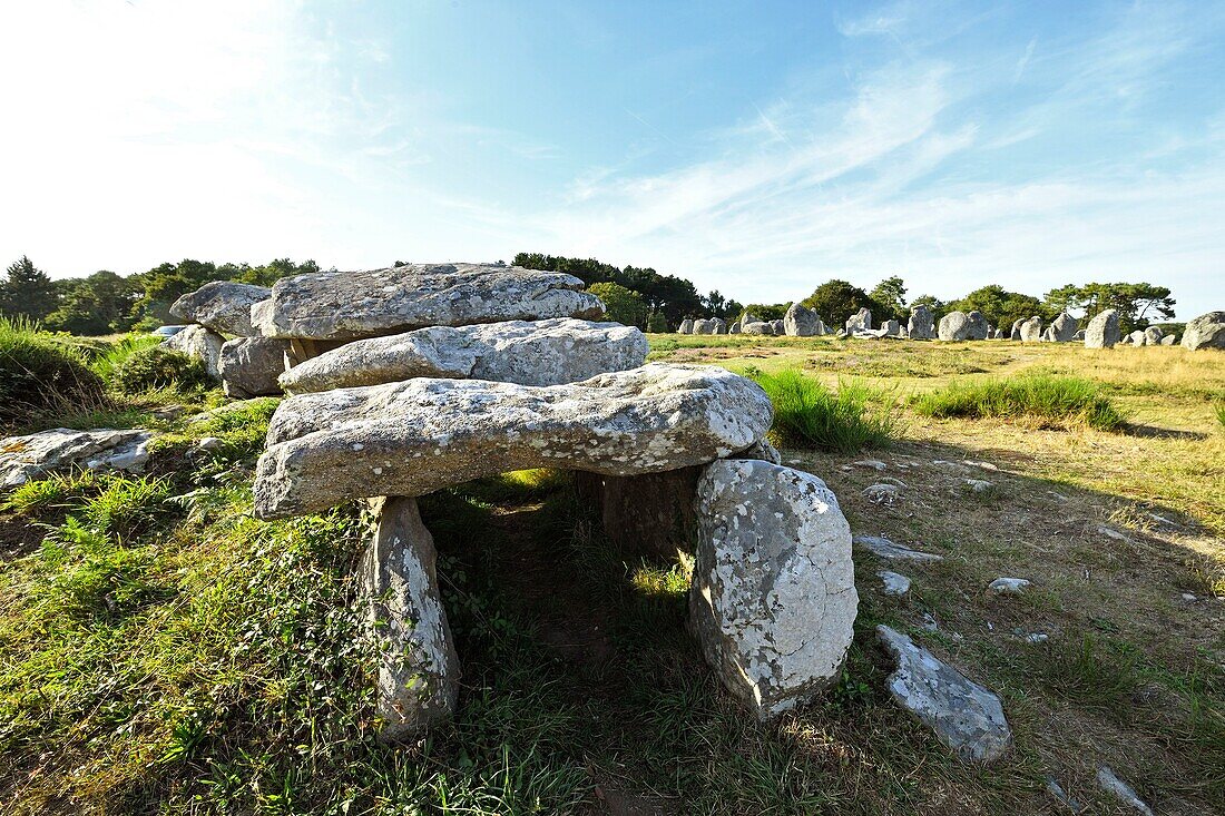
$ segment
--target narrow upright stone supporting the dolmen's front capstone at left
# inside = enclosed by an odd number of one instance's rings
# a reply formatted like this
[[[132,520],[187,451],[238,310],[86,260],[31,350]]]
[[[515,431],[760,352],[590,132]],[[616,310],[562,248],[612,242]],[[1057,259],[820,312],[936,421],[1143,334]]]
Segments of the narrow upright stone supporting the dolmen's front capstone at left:
[[[359,586],[379,654],[380,736],[398,740],[454,711],[459,657],[417,500],[379,497],[371,515]]]

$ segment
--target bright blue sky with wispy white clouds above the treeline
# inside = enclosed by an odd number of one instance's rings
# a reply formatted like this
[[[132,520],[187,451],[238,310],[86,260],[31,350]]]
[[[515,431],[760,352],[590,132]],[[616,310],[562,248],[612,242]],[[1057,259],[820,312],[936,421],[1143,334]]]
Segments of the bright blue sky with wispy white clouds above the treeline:
[[[6,4],[0,257],[1225,306],[1223,2]]]

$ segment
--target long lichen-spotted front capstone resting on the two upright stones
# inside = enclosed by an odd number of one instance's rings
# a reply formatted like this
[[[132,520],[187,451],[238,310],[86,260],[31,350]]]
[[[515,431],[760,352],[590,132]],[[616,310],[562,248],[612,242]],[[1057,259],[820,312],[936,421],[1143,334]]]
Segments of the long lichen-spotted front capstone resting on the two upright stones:
[[[773,409],[715,366],[650,364],[550,387],[421,377],[290,397],[268,428],[256,512],[417,496],[534,467],[655,473],[744,450]]]

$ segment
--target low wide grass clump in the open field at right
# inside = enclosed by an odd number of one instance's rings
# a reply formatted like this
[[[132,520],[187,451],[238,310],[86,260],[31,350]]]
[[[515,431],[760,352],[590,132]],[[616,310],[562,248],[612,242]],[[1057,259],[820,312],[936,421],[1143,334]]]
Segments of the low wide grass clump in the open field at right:
[[[1030,375],[1012,380],[951,382],[940,391],[916,395],[911,407],[925,417],[1036,419],[1063,425],[1088,425],[1112,431],[1127,419],[1101,393],[1099,386],[1079,377]]]

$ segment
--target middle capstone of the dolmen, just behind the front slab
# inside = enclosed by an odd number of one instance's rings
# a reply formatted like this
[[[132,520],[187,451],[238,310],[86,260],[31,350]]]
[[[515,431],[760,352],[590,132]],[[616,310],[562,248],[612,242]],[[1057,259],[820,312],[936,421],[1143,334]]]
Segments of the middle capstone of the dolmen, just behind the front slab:
[[[306,393],[413,377],[561,385],[637,368],[649,350],[632,326],[570,317],[430,326],[345,343],[281,374],[281,387]]]

